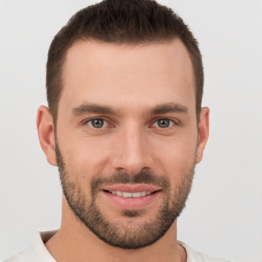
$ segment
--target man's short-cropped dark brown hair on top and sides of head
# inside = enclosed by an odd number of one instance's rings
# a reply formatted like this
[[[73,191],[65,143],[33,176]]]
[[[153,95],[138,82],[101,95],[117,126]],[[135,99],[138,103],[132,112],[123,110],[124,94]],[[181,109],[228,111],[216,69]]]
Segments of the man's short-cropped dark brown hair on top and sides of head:
[[[197,120],[201,112],[204,72],[198,41],[172,9],[151,0],[104,0],[81,9],[55,35],[47,60],[47,100],[54,122],[62,92],[67,50],[78,39],[129,45],[180,38],[194,71]]]

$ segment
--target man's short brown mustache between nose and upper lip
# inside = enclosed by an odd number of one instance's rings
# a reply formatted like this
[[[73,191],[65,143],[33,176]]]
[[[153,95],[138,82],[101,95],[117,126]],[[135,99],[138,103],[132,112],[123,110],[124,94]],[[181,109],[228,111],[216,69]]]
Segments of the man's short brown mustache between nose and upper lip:
[[[91,181],[91,191],[95,195],[104,185],[114,184],[148,184],[160,186],[163,190],[170,189],[170,180],[166,176],[160,176],[150,170],[141,170],[134,176],[125,172],[117,172],[110,175],[99,174]]]

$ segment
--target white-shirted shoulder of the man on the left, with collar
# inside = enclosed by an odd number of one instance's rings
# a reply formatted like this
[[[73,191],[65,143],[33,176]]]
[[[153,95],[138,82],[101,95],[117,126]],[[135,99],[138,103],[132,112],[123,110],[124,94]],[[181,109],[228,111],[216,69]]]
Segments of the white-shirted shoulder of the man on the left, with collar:
[[[55,231],[44,232],[43,235],[51,235],[54,232]],[[43,243],[43,235],[38,232],[31,246],[4,262],[56,262]]]

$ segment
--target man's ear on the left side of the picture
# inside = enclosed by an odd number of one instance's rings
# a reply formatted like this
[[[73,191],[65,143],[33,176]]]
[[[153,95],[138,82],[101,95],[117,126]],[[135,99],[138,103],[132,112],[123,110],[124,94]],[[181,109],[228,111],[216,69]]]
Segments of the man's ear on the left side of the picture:
[[[55,156],[55,133],[53,117],[48,107],[41,105],[37,111],[36,126],[43,152],[50,165],[57,166]]]

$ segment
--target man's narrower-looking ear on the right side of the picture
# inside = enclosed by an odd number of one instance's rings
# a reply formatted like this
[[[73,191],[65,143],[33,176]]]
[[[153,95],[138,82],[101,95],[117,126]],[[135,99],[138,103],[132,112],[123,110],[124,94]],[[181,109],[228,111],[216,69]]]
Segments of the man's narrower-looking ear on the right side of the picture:
[[[209,136],[209,108],[203,107],[199,119],[199,138],[197,150],[197,164],[202,160],[204,149]]]

